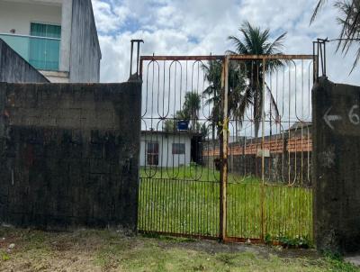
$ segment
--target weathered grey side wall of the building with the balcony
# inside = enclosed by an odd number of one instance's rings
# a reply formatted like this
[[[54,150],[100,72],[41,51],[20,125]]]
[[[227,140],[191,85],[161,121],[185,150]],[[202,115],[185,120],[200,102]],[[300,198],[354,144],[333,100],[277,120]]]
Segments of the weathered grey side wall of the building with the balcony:
[[[70,82],[99,82],[101,50],[91,0],[73,1]]]

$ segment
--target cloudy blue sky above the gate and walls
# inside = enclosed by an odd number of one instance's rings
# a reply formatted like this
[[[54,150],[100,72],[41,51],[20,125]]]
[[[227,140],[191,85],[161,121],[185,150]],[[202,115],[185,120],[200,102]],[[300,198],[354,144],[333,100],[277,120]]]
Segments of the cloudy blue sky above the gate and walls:
[[[142,55],[223,54],[232,49],[244,20],[270,28],[272,37],[287,32],[285,53],[311,54],[317,37],[336,38],[336,10],[324,8],[309,25],[315,0],[92,0],[103,52],[101,80],[129,77],[130,40],[143,39]],[[346,57],[329,45],[329,77],[360,84],[360,68],[348,76],[355,50]]]

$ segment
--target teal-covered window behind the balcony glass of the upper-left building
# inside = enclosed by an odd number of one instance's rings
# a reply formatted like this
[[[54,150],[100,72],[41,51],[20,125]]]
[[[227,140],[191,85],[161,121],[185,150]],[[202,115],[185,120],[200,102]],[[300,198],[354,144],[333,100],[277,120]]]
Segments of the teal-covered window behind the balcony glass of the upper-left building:
[[[31,23],[30,35],[51,38],[31,38],[29,58],[31,65],[44,70],[58,70],[61,26],[46,23]]]

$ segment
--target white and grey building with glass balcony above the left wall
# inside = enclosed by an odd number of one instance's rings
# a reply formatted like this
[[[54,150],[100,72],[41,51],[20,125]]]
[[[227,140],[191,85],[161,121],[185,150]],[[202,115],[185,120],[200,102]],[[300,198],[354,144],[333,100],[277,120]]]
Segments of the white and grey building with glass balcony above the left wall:
[[[91,0],[0,0],[0,39],[50,82],[99,82]]]

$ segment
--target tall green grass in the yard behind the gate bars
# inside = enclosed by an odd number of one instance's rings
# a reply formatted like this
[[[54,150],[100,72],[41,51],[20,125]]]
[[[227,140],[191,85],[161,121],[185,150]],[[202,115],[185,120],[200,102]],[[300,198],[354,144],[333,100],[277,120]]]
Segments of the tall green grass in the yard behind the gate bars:
[[[150,175],[151,174],[151,175]],[[139,230],[219,235],[219,172],[210,168],[141,169]],[[229,175],[227,235],[292,245],[312,240],[312,190],[263,185]],[[264,220],[263,220],[264,219]]]

